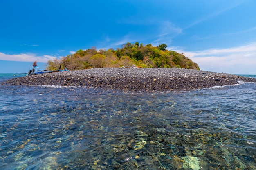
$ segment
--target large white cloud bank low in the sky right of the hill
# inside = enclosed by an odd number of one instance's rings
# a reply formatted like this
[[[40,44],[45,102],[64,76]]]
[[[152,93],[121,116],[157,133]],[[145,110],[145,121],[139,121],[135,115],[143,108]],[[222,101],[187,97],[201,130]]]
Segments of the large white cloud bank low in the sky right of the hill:
[[[172,47],[172,50],[174,48]],[[186,57],[196,62],[201,70],[231,74],[256,73],[256,42],[227,49],[185,51],[177,47],[174,51],[184,53]]]

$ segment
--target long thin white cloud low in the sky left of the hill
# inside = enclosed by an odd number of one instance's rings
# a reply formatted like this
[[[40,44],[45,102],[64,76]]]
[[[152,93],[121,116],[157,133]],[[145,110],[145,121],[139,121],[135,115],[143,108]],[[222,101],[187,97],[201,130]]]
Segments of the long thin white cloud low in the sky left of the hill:
[[[36,54],[4,54],[0,53],[0,60],[6,61],[20,61],[20,62],[48,62],[49,60],[54,60],[56,57],[50,55],[36,56]]]

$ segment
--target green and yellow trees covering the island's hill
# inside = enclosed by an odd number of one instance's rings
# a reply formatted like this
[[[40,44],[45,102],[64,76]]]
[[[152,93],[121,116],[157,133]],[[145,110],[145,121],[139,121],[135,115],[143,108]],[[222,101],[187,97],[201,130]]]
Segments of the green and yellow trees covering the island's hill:
[[[139,68],[200,68],[191,59],[175,51],[167,50],[166,44],[144,46],[138,42],[130,42],[114,49],[100,49],[95,47],[87,50],[78,50],[74,54],[61,59],[49,60],[47,69],[81,70],[86,68],[121,67],[135,64]]]

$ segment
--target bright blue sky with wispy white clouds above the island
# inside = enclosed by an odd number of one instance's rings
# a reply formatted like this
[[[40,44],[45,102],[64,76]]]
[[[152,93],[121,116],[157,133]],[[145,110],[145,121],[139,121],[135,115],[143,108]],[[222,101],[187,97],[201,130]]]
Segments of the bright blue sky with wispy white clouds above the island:
[[[201,70],[256,74],[256,0],[1,0],[0,73],[127,42],[166,44]]]

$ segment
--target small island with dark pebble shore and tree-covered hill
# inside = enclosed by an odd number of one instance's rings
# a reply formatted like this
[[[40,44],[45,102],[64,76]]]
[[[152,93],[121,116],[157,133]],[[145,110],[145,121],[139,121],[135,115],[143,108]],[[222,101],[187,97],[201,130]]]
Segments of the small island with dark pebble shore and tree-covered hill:
[[[116,50],[80,49],[47,63],[49,70],[67,68],[70,71],[20,77],[3,84],[77,86],[151,93],[191,91],[234,85],[239,81],[256,82],[254,78],[201,71],[183,53],[166,48],[166,44],[152,46],[128,42]]]

